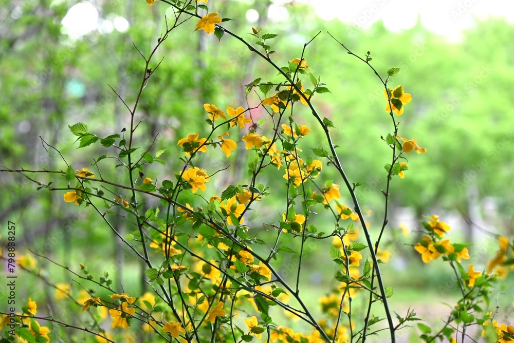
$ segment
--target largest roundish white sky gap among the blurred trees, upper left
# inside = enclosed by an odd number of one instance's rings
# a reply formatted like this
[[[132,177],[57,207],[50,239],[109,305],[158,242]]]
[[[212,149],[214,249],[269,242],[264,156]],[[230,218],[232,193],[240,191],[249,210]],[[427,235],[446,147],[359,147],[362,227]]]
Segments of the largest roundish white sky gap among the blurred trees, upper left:
[[[79,39],[98,28],[98,11],[89,3],[72,6],[62,20],[63,33],[72,39]]]

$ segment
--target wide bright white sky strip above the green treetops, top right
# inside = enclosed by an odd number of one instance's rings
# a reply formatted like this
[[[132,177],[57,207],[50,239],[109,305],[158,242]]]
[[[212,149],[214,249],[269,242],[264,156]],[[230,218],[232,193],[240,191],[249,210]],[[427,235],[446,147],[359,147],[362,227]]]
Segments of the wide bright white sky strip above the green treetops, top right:
[[[324,20],[338,18],[360,28],[382,20],[387,29],[398,31],[413,27],[419,18],[428,30],[451,41],[458,41],[475,18],[503,16],[514,23],[514,2],[505,0],[311,0],[311,5]]]

